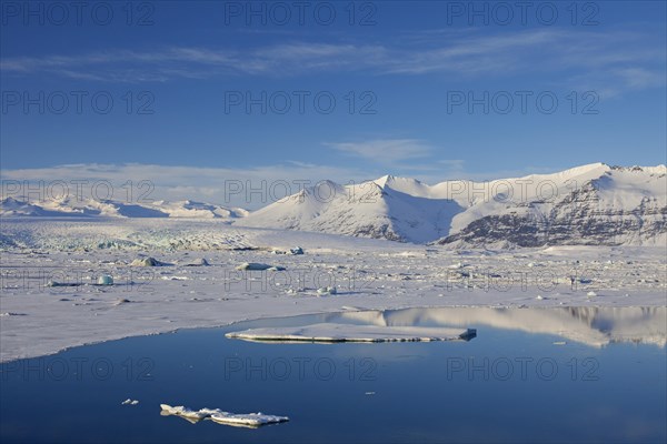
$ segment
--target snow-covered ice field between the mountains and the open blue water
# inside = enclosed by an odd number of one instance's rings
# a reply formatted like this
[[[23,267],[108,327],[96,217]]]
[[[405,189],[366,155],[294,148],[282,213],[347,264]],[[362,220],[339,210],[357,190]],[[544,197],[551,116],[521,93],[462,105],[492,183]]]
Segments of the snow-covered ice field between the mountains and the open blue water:
[[[666,249],[659,246],[451,250],[202,220],[1,223],[3,362],[307,313],[667,305]],[[289,254],[296,246],[305,254]],[[130,265],[148,256],[165,265]],[[190,265],[200,259],[210,265]],[[285,270],[237,270],[246,262]],[[111,275],[115,284],[96,285],[100,275]]]

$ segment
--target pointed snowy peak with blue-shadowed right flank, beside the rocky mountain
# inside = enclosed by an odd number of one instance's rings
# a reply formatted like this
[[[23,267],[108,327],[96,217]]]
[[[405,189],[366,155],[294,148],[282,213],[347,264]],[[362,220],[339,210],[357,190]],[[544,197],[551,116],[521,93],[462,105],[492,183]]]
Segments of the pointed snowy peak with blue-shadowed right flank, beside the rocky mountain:
[[[462,210],[452,200],[427,195],[425,185],[409,179],[386,176],[347,186],[325,182],[238,224],[422,243],[447,234],[451,218]]]

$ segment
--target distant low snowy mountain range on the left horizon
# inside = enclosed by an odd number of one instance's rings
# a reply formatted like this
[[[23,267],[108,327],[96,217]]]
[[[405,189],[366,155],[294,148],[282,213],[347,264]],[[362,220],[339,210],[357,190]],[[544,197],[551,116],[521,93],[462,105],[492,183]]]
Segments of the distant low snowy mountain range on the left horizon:
[[[6,198],[0,201],[0,216],[117,216],[117,218],[193,218],[235,219],[248,212],[238,208],[193,202],[152,201],[125,203],[111,200],[66,198],[28,200]]]

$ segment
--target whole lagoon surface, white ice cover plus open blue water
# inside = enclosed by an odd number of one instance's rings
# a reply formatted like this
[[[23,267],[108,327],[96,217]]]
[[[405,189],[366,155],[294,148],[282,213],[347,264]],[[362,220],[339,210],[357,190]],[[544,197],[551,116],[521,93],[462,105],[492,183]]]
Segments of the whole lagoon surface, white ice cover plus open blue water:
[[[666,438],[665,248],[452,251],[156,220],[2,220],[1,234],[2,442]],[[149,256],[163,266],[130,265]],[[477,337],[225,337],[322,323]],[[290,422],[189,424],[160,404]]]

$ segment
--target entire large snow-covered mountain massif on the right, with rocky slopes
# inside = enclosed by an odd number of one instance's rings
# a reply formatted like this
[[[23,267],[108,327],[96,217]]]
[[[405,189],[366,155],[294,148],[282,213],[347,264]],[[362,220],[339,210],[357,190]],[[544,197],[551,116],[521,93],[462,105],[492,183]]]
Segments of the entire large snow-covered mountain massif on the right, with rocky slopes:
[[[554,174],[427,185],[321,182],[236,222],[455,246],[665,244],[667,168],[604,163]]]

